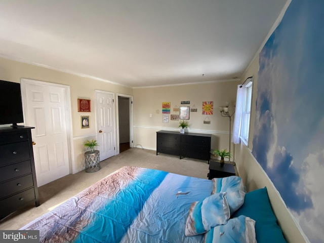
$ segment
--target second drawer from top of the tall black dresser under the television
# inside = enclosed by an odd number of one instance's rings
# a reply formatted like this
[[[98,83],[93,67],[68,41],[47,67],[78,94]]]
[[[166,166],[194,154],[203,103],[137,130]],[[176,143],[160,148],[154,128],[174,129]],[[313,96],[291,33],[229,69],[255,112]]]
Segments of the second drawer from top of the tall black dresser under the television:
[[[0,166],[30,158],[29,142],[5,144],[0,146]]]

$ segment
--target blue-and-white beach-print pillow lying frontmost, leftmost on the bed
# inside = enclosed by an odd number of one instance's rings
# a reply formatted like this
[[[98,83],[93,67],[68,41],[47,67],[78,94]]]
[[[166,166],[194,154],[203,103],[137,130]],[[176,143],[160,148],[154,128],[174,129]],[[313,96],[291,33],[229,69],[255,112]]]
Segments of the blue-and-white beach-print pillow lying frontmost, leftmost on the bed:
[[[185,235],[192,236],[226,224],[230,217],[226,193],[217,193],[191,204],[187,216]]]

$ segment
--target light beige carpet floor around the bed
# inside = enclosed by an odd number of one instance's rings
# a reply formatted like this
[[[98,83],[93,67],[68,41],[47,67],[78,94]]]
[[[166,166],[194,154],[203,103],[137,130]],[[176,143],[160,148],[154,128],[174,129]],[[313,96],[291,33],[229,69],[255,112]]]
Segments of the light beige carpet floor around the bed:
[[[101,170],[94,173],[85,171],[68,175],[38,188],[41,206],[27,206],[0,221],[0,229],[16,230],[33,219],[49,212],[78,192],[123,166],[163,170],[171,173],[207,179],[207,161],[182,158],[168,154],[158,154],[153,150],[131,148],[100,163]]]

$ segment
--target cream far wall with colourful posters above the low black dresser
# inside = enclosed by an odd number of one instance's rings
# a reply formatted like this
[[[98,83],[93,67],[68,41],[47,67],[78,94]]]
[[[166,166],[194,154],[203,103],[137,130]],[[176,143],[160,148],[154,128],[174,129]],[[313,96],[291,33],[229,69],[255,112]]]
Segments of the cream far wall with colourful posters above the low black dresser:
[[[162,102],[171,102],[171,114],[175,106],[195,105],[197,112],[190,112],[188,132],[212,134],[212,148],[229,147],[229,119],[222,117],[219,106],[225,102],[231,103],[230,110],[234,111],[236,87],[235,82],[211,82],[194,85],[178,85],[167,87],[134,89],[134,120],[135,120],[135,145],[140,144],[147,149],[156,149],[156,131],[179,131],[179,120],[163,122]],[[188,105],[181,105],[181,101],[190,101]],[[214,102],[214,114],[203,115],[203,101]],[[158,112],[158,113],[157,113]],[[150,117],[150,114],[152,115]],[[204,119],[210,119],[210,124],[204,124]]]

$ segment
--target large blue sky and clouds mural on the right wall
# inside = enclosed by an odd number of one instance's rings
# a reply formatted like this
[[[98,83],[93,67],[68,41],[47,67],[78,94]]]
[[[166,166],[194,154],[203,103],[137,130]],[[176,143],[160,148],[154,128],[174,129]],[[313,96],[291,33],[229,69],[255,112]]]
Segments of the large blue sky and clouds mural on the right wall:
[[[292,0],[259,56],[253,155],[324,242],[324,1]]]

